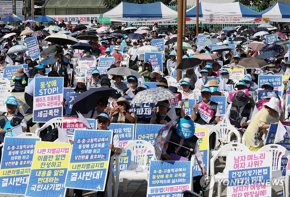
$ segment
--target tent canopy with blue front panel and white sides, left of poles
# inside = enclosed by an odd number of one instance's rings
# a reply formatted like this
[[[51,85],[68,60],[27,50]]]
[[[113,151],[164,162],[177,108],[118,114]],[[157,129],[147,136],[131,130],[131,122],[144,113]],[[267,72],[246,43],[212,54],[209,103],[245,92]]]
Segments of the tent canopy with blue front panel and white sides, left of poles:
[[[108,17],[112,21],[125,22],[175,21],[177,12],[162,2],[147,4],[121,2],[115,8],[105,12],[103,17]]]

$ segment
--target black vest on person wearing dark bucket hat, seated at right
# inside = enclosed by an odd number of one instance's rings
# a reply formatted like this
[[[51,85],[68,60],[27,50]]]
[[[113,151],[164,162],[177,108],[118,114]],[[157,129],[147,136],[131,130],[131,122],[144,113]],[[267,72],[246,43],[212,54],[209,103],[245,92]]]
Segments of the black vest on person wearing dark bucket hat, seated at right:
[[[238,106],[234,105],[232,103],[231,106],[231,115],[230,115],[230,121],[232,125],[235,125],[235,127],[240,127],[241,124],[241,120],[243,119],[243,117],[247,117],[247,120],[249,120],[249,116],[252,110],[252,105],[250,103],[247,103],[245,105],[244,110],[242,111],[242,114],[240,116],[239,111],[238,111]],[[244,128],[247,128],[247,126],[245,126]]]

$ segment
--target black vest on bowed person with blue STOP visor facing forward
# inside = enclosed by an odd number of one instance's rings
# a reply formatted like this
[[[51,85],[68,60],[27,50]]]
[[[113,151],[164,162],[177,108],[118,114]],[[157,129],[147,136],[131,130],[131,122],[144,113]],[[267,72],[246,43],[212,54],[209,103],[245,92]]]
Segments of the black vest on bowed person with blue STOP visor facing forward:
[[[181,140],[181,137],[179,135],[177,135],[176,128],[172,128],[172,134],[171,134],[170,141],[168,142],[168,147],[167,147],[166,153],[167,154],[170,154],[170,153],[176,154],[175,149],[178,147],[178,145],[176,145],[176,144],[179,144],[180,140]],[[195,135],[193,135],[190,138],[185,139],[182,146],[184,146],[186,148],[181,147],[178,150],[177,155],[185,157],[185,158],[189,158],[189,161],[190,161],[191,155],[194,153],[191,152],[190,150],[188,150],[187,148],[192,148],[194,150],[197,140],[198,140],[198,137],[196,137]],[[171,143],[171,142],[173,142],[173,143]],[[176,144],[174,144],[174,143],[176,143]]]

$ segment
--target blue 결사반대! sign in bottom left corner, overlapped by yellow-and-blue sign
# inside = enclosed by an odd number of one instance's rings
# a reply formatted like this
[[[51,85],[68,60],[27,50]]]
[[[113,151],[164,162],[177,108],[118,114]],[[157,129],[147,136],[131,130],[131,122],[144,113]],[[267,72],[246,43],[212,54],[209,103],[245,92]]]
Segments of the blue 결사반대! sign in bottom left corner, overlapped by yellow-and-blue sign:
[[[25,194],[35,142],[39,140],[40,138],[4,138],[0,170],[1,194]]]

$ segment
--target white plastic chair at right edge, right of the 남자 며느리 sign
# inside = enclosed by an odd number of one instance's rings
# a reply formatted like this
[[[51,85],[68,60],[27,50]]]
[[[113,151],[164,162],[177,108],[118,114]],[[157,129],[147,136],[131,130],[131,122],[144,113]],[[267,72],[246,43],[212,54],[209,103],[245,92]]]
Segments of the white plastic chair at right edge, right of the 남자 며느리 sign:
[[[271,152],[273,155],[273,160],[272,160],[272,185],[281,185],[280,181],[284,181],[283,184],[283,196],[289,196],[289,175],[282,176],[282,171],[281,171],[281,161],[282,157],[287,157],[288,162],[289,162],[289,151],[284,148],[283,146],[279,144],[268,144],[266,146],[263,146],[258,150],[259,152]],[[288,166],[288,165],[286,165]]]

